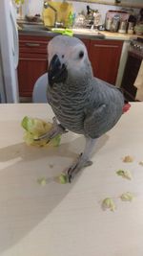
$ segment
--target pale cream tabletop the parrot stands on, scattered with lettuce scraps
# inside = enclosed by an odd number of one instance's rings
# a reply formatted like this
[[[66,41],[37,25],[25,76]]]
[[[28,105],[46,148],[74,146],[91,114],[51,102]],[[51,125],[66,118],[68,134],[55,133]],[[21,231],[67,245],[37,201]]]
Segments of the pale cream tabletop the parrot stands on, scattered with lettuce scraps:
[[[143,104],[133,103],[98,140],[92,166],[72,184],[55,177],[83,150],[83,136],[68,132],[58,148],[27,146],[25,115],[51,121],[53,113],[43,104],[0,105],[0,256],[142,256]],[[125,155],[133,162],[123,162]],[[116,175],[120,169],[132,180]],[[125,192],[132,202],[121,201]],[[101,207],[107,197],[114,212]]]

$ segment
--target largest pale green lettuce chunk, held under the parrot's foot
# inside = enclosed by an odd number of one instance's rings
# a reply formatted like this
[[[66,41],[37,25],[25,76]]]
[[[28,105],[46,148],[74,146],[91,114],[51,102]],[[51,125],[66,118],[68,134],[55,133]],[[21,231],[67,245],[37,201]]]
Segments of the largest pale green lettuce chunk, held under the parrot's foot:
[[[39,118],[25,116],[21,122],[21,126],[25,129],[24,141],[27,145],[39,147],[47,145],[46,138],[39,141],[35,141],[35,139],[51,130],[52,124],[50,122],[47,123]],[[58,147],[60,145],[60,141],[61,135],[57,135],[55,138],[51,139],[49,145]]]

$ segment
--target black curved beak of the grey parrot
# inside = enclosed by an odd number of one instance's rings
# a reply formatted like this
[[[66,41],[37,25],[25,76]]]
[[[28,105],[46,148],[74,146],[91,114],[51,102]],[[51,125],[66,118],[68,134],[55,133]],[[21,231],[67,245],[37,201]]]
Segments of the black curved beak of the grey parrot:
[[[54,55],[51,58],[50,67],[49,67],[49,83],[52,86],[54,82],[64,82],[68,77],[68,71],[66,65],[60,62],[60,59],[57,55]]]

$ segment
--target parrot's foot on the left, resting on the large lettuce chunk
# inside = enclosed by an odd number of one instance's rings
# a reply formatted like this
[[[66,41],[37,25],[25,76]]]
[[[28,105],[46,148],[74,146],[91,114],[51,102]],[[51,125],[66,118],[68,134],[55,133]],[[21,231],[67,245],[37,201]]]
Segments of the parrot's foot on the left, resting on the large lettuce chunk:
[[[53,117],[52,121],[53,121],[53,125],[51,130],[39,136],[38,138],[34,139],[35,141],[47,139],[48,140],[47,143],[49,143],[51,139],[53,139],[55,136],[68,132],[66,128],[62,127],[62,125],[57,123],[56,117]]]

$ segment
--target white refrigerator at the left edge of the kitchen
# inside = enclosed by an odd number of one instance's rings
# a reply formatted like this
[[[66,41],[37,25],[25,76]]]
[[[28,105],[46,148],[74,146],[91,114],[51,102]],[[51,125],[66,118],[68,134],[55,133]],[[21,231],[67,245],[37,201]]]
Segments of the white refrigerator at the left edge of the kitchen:
[[[19,59],[16,10],[11,0],[0,0],[0,103],[18,103]]]

